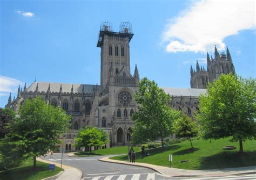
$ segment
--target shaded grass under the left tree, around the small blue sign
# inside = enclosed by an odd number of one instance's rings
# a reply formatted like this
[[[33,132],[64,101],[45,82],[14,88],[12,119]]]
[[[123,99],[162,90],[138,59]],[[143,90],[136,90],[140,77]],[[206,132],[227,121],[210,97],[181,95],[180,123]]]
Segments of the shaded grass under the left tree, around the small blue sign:
[[[55,167],[55,170],[49,170],[49,164],[37,161],[37,167],[32,169],[33,160],[26,160],[24,163],[16,168],[0,171],[1,180],[12,180],[12,179],[42,179],[57,175],[63,169]]]

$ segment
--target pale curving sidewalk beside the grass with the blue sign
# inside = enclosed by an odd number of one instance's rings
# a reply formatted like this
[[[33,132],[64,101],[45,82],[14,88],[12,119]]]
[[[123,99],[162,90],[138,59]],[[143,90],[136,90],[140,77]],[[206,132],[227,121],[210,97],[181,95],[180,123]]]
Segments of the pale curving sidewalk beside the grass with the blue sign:
[[[40,157],[37,157],[37,161],[49,163],[49,164],[55,164],[57,167],[60,168],[60,164],[52,161],[42,160]],[[60,174],[56,179],[61,180],[80,180],[82,178],[82,171],[80,171],[77,168],[70,167],[68,165],[62,164],[62,168],[64,169],[64,172]],[[48,179],[48,178],[46,178]],[[53,178],[55,179],[55,178]]]

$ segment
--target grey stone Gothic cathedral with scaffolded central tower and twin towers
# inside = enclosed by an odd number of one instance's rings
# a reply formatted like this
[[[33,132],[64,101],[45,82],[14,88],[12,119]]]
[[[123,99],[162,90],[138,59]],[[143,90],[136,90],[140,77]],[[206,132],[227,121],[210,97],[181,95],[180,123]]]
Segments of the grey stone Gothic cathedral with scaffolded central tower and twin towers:
[[[134,126],[132,114],[138,110],[133,93],[137,92],[139,71],[134,67],[131,74],[130,41],[133,37],[130,23],[120,24],[119,32],[112,30],[109,22],[101,23],[97,41],[100,51],[100,85],[98,84],[68,84],[52,82],[33,82],[28,88],[26,83],[18,88],[17,97],[8,104],[15,112],[24,99],[40,96],[47,104],[60,106],[67,114],[72,114],[72,126],[69,132],[60,136],[63,139],[63,151],[80,150],[73,146],[74,139],[80,128],[91,125],[103,129],[109,134],[110,142],[103,148],[127,145],[130,140],[131,127]],[[163,88],[171,95],[170,106],[188,116],[199,110],[198,97],[206,93],[207,82],[212,82],[220,74],[234,73],[231,55],[217,52],[215,59],[210,59],[207,53],[207,71],[191,67],[190,88]],[[61,145],[60,152],[62,151]]]

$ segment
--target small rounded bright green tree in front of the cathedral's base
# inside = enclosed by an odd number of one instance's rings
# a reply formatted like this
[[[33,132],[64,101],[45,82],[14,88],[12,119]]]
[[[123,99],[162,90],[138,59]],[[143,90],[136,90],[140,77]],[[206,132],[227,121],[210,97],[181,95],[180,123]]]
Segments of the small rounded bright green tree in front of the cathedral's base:
[[[97,127],[86,126],[78,132],[75,146],[90,147],[90,153],[92,153],[92,146],[104,146],[107,142],[109,142],[109,135],[106,132]]]

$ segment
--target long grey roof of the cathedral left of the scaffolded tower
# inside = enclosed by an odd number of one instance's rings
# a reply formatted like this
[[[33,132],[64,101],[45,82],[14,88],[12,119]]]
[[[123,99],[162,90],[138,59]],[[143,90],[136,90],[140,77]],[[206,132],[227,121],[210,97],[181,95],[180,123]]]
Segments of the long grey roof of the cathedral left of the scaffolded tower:
[[[93,84],[69,84],[69,83],[51,83],[51,82],[33,82],[29,87],[28,91],[35,91],[38,83],[38,91],[46,92],[48,90],[50,84],[50,92],[59,92],[60,84],[62,84],[62,92],[71,92],[71,88],[73,85],[73,93],[82,93],[82,89],[84,86],[85,93],[92,93],[93,87],[96,85]],[[98,85],[99,92],[101,91],[100,85]]]

